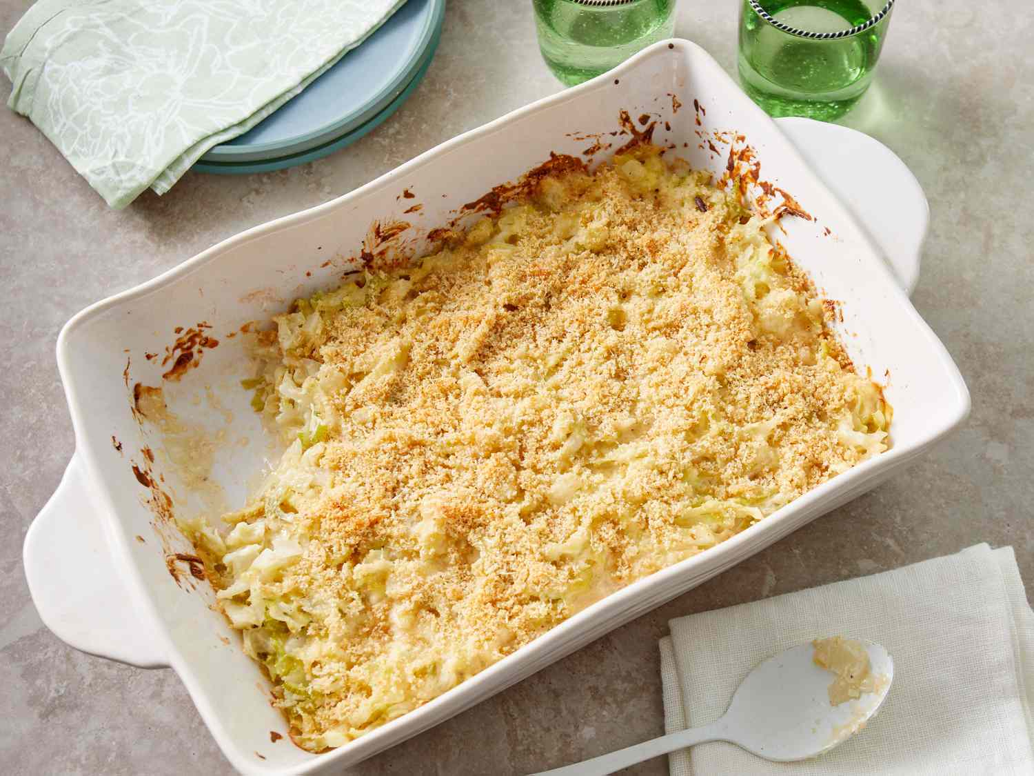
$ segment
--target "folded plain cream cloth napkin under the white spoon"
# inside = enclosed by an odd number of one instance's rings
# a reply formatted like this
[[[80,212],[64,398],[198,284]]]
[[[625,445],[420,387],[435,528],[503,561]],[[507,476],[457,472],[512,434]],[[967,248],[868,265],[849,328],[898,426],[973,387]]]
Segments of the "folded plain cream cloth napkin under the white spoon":
[[[1034,773],[1034,614],[1011,547],[978,544],[669,625],[668,733],[718,719],[751,668],[813,638],[868,638],[894,660],[879,714],[821,757],[768,763],[714,742],[671,754],[671,776]]]

